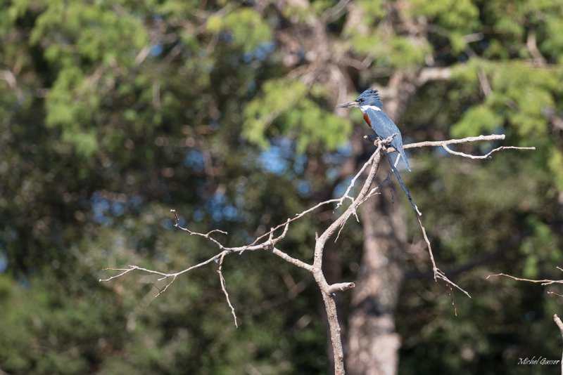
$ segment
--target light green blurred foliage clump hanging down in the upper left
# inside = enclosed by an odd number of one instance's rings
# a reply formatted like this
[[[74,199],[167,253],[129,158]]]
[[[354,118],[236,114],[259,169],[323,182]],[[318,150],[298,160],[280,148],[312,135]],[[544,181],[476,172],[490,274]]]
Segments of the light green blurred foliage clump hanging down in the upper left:
[[[30,33],[58,70],[46,96],[46,124],[60,127],[64,143],[81,157],[99,152],[99,113],[119,77],[148,39],[139,17],[119,15],[111,2],[46,1]],[[92,66],[96,66],[92,69]]]

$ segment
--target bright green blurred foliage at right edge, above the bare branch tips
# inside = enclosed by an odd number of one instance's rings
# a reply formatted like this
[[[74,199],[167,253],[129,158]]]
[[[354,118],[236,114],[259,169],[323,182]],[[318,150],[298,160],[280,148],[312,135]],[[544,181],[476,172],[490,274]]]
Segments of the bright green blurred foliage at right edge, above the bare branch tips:
[[[561,151],[554,147],[548,131],[546,111],[559,110],[557,103],[563,97],[559,82],[561,70],[543,70],[529,67],[526,62],[490,62],[467,65],[456,78],[462,84],[475,84],[481,70],[491,84],[491,94],[483,103],[470,107],[451,128],[453,137],[496,132],[506,129],[521,139],[521,145],[533,143],[543,155],[557,186],[561,186],[563,164],[557,162]],[[464,67],[458,67],[464,70]]]

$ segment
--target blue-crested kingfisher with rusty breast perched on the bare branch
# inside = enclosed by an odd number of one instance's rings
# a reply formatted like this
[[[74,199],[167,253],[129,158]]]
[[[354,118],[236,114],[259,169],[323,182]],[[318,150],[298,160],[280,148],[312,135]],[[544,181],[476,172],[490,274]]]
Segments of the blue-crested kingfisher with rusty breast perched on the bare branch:
[[[377,90],[374,88],[368,88],[366,91],[361,93],[356,100],[352,100],[348,103],[341,103],[337,105],[337,107],[360,108],[364,114],[364,119],[367,124],[372,127],[372,130],[381,139],[386,139],[393,136],[393,134],[396,134],[393,140],[391,140],[391,145],[395,147],[395,150],[397,150],[400,156],[403,157],[405,164],[407,164],[407,169],[410,171],[409,161],[405,155],[405,150],[403,150],[403,137],[400,136],[399,128],[393,120],[390,119],[381,109],[381,107],[383,107],[383,103],[381,103],[381,97],[379,96],[379,92],[377,92]],[[368,136],[368,138],[370,140],[375,139],[373,136]]]

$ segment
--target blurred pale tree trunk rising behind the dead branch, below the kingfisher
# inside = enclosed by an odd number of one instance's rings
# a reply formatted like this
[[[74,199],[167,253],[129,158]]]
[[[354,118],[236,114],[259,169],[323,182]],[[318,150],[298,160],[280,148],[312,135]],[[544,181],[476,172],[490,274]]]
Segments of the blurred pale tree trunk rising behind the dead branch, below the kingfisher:
[[[364,252],[348,333],[350,374],[396,374],[400,337],[393,315],[403,281],[405,211],[378,197],[360,208]]]

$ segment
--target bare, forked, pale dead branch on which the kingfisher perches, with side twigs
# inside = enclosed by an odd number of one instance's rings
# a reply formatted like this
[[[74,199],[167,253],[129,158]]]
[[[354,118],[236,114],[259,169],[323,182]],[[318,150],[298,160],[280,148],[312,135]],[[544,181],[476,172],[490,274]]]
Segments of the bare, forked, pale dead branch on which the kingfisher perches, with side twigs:
[[[448,145],[452,145],[452,144],[474,142],[474,141],[477,141],[477,140],[499,140],[499,139],[504,139],[504,138],[505,138],[505,136],[502,136],[502,135],[501,136],[493,135],[493,136],[469,137],[469,138],[462,138],[462,139],[443,140],[443,141],[437,141],[437,142],[412,143],[410,145],[405,145],[405,148],[439,146],[439,147],[444,147],[445,150],[450,150],[448,148]],[[350,180],[350,184],[348,185],[346,192],[344,192],[344,194],[340,198],[329,199],[327,201],[320,202],[319,204],[316,204],[315,206],[312,206],[311,208],[306,209],[305,211],[302,211],[301,213],[296,214],[295,217],[288,218],[284,223],[281,223],[281,224],[279,224],[279,225],[277,225],[273,228],[270,228],[269,232],[264,233],[263,235],[261,235],[260,237],[255,239],[254,242],[252,242],[251,244],[247,244],[247,245],[244,245],[244,246],[236,246],[236,247],[224,246],[224,244],[222,244],[219,240],[213,238],[212,235],[214,235],[215,233],[227,235],[227,232],[224,232],[222,230],[211,230],[210,232],[207,232],[207,233],[200,233],[200,232],[194,232],[192,230],[189,230],[188,228],[184,228],[184,227],[182,227],[182,225],[179,224],[179,217],[177,215],[177,211],[174,210],[174,209],[171,209],[170,211],[174,214],[174,218],[175,218],[175,224],[174,225],[175,225],[176,228],[179,228],[179,230],[183,230],[184,232],[189,233],[189,235],[196,235],[198,237],[203,237],[205,239],[208,239],[210,242],[215,244],[215,246],[217,246],[217,248],[220,250],[220,252],[218,252],[214,256],[211,256],[210,258],[206,259],[205,261],[202,261],[202,262],[200,262],[196,265],[191,265],[190,267],[185,268],[184,270],[180,270],[178,272],[160,272],[160,271],[156,271],[156,270],[150,270],[148,268],[139,267],[137,265],[129,265],[128,268],[105,268],[104,270],[119,271],[119,273],[117,275],[113,275],[113,276],[108,277],[106,279],[100,279],[99,281],[100,282],[109,282],[110,280],[116,279],[118,277],[125,276],[129,272],[132,272],[134,270],[139,270],[141,272],[146,272],[146,273],[149,273],[149,274],[158,275],[158,281],[162,281],[162,280],[165,280],[165,279],[170,280],[163,289],[159,289],[159,292],[156,295],[156,296],[159,296],[160,294],[163,294],[166,291],[166,289],[168,287],[170,287],[170,285],[173,282],[175,282],[175,280],[177,279],[177,277],[179,275],[183,275],[186,272],[194,270],[195,268],[203,267],[204,265],[208,265],[209,263],[217,262],[219,264],[219,267],[217,269],[217,273],[219,274],[219,277],[220,277],[221,289],[222,289],[223,294],[224,294],[224,296],[227,300],[227,304],[229,305],[229,308],[231,309],[231,314],[234,317],[234,324],[235,324],[236,327],[238,327],[236,313],[235,313],[234,307],[232,305],[232,302],[230,301],[229,294],[227,292],[225,279],[224,279],[224,276],[222,274],[222,270],[223,270],[222,266],[223,266],[224,258],[227,255],[232,254],[232,253],[241,254],[243,251],[260,251],[260,250],[269,251],[272,254],[279,256],[279,258],[283,259],[284,261],[289,262],[293,265],[296,265],[299,268],[303,268],[304,270],[307,270],[314,277],[315,282],[317,282],[317,285],[318,285],[320,291],[322,292],[322,297],[323,297],[325,309],[327,310],[327,317],[328,317],[328,320],[329,320],[329,327],[330,327],[330,334],[331,334],[331,342],[332,342],[332,347],[333,347],[333,350],[334,350],[335,373],[336,374],[344,374],[343,348],[342,348],[342,343],[341,343],[340,325],[339,325],[338,317],[336,315],[336,302],[334,301],[334,294],[338,291],[346,291],[348,289],[351,289],[351,288],[355,287],[355,284],[353,282],[340,282],[340,283],[331,284],[331,285],[329,285],[327,283],[327,280],[324,277],[324,273],[322,272],[322,256],[323,256],[323,252],[324,252],[324,246],[326,245],[327,240],[329,238],[333,237],[336,232],[338,233],[336,235],[336,239],[338,239],[339,234],[340,234],[343,226],[346,224],[346,222],[348,221],[350,216],[355,216],[358,219],[357,209],[360,206],[360,204],[366,202],[367,199],[369,199],[369,197],[372,197],[372,196],[378,194],[377,190],[379,190],[379,186],[372,187],[372,185],[373,185],[373,182],[374,182],[374,178],[377,175],[377,171],[379,171],[379,164],[381,162],[381,154],[384,153],[384,152],[388,152],[388,151],[393,150],[393,147],[385,147],[385,145],[388,145],[388,143],[390,143],[392,139],[393,139],[393,136],[387,138],[386,140],[378,140],[375,143],[377,145],[377,149],[374,151],[374,153],[369,158],[369,160],[360,168],[358,173],[355,174],[355,176],[352,178],[352,180]],[[463,156],[463,157],[472,157],[472,158],[475,158],[475,159],[485,159],[487,157],[490,157],[490,155],[493,154],[493,152],[498,152],[500,150],[506,150],[506,149],[533,150],[533,147],[512,147],[512,146],[498,147],[495,150],[492,150],[488,154],[483,155],[481,157],[475,157],[474,155],[464,154],[462,152],[455,152],[455,151],[452,151],[452,150],[450,150],[450,152],[453,153],[453,154],[458,154],[458,155]],[[362,173],[365,172],[365,170],[367,169],[368,166],[369,166],[369,172],[367,173],[367,177],[365,178],[365,181],[364,181],[364,183],[363,183],[363,185],[360,189],[360,192],[358,192],[358,195],[353,197],[353,195],[351,195],[353,187],[355,186],[355,183],[360,178]],[[392,163],[391,163],[391,166],[393,167]],[[396,174],[398,174],[398,173],[396,173]],[[385,181],[389,180],[390,176],[391,175],[389,175],[385,179]],[[401,183],[403,189],[406,190],[406,187],[404,187],[402,181],[400,181],[400,183]],[[303,218],[303,216],[307,215],[308,213],[311,213],[312,211],[315,211],[315,209],[318,209],[321,206],[324,206],[324,205],[327,205],[327,204],[336,204],[336,208],[339,208],[340,206],[342,206],[342,204],[345,200],[350,200],[350,202],[351,202],[350,205],[348,207],[346,207],[346,209],[344,209],[342,213],[340,213],[340,216],[338,218],[336,218],[334,220],[334,222],[331,223],[331,225],[329,225],[329,228],[327,228],[327,230],[324,230],[324,232],[322,232],[321,235],[318,235],[315,232],[315,249],[314,249],[314,254],[313,254],[312,265],[305,263],[305,262],[303,262],[303,261],[301,261],[297,258],[293,258],[292,256],[289,256],[289,254],[282,251],[281,249],[279,249],[276,246],[277,243],[279,243],[282,239],[284,239],[286,237],[287,232],[289,230],[290,223],[298,220],[299,218]],[[462,291],[469,298],[471,298],[471,296],[469,296],[467,291],[464,291],[464,289],[462,289],[457,284],[455,284],[450,279],[448,279],[448,277],[446,277],[446,275],[437,267],[436,261],[434,259],[434,254],[432,253],[430,240],[429,240],[428,236],[426,235],[426,230],[425,230],[424,226],[422,225],[422,221],[420,220],[420,217],[419,217],[421,215],[421,213],[418,210],[417,206],[414,204],[414,202],[411,202],[411,203],[413,205],[413,209],[414,209],[415,213],[417,213],[417,220],[418,220],[419,226],[422,230],[422,235],[424,237],[424,241],[426,242],[426,246],[428,247],[428,250],[429,250],[430,261],[432,263],[432,268],[433,268],[433,272],[434,272],[434,279],[436,281],[438,281],[438,279],[441,279],[443,282],[445,282],[448,285],[448,288],[450,288],[450,296],[452,296],[452,288],[455,287],[456,289]],[[279,230],[281,228],[284,228],[283,231],[281,232],[281,234],[276,235],[277,230]],[[499,274],[499,275],[512,277],[510,275],[504,275],[504,274]],[[512,278],[518,279],[516,277],[512,277]],[[533,281],[533,280],[526,280],[526,279],[521,279],[521,280]],[[533,282],[545,282],[546,284],[551,284],[551,283],[556,283],[556,282],[557,283],[563,283],[563,280],[560,280],[560,281],[535,280]],[[453,296],[452,296],[452,303],[453,303]],[[455,304],[454,303],[453,303],[453,306],[454,306],[454,310],[455,310]]]

